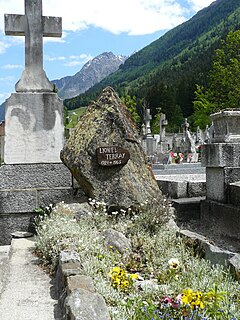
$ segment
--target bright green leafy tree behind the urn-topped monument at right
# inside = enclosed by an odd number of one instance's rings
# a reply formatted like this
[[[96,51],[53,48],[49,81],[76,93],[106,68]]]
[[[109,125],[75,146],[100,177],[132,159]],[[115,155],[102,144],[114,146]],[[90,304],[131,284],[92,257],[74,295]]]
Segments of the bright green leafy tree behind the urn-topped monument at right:
[[[240,30],[228,33],[215,50],[207,87],[195,91],[195,125],[209,124],[209,115],[226,108],[240,107]]]

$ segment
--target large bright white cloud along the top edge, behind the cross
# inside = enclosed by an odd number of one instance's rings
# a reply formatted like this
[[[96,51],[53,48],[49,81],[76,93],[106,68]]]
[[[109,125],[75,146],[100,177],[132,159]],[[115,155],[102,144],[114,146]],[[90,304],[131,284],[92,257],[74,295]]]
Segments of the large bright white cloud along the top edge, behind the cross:
[[[43,14],[63,18],[65,31],[77,31],[90,25],[118,34],[143,35],[170,29],[184,20],[191,10],[196,12],[208,6],[212,0],[43,0]],[[24,11],[24,0],[0,0],[1,12]],[[3,15],[0,17],[3,30]]]

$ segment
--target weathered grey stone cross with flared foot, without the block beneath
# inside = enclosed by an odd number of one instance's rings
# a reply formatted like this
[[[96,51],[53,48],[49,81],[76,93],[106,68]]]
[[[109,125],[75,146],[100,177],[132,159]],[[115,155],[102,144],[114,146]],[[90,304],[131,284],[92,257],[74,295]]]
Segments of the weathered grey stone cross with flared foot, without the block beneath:
[[[5,34],[25,35],[25,70],[17,92],[51,92],[43,70],[43,37],[61,37],[62,18],[42,16],[42,0],[25,0],[25,15],[5,14]]]

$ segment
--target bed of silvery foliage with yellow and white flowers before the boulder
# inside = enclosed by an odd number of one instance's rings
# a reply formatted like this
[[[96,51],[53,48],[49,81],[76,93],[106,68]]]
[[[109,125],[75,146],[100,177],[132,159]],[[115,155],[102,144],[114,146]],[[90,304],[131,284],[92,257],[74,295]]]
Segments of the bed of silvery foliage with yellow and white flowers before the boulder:
[[[151,210],[144,213],[148,206],[116,215],[107,214],[103,202],[91,202],[95,212],[80,219],[63,203],[42,215],[35,251],[51,270],[56,270],[61,250],[77,251],[112,320],[240,319],[239,283],[224,267],[193,256],[161,217]],[[162,214],[165,206],[167,202]],[[131,241],[129,255],[104,245],[101,232],[109,227]]]

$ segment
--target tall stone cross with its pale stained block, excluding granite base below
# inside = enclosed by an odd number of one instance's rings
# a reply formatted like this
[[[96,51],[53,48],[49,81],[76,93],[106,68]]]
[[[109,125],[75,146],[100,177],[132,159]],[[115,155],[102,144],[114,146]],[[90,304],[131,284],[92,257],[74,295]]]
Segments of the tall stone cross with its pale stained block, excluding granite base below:
[[[61,18],[42,16],[42,0],[25,0],[25,15],[5,15],[6,35],[25,35],[25,70],[6,101],[6,164],[61,162],[63,104],[43,70],[43,37],[61,32]]]

